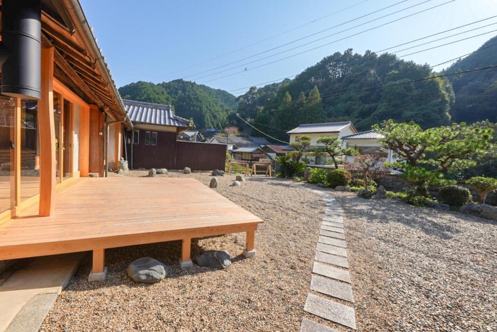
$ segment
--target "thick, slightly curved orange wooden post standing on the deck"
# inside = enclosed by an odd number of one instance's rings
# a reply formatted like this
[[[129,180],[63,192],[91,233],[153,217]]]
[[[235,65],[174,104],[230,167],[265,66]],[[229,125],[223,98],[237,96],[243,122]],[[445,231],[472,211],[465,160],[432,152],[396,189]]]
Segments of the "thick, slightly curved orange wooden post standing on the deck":
[[[40,128],[40,216],[55,208],[54,48],[41,48],[41,99],[38,101]]]

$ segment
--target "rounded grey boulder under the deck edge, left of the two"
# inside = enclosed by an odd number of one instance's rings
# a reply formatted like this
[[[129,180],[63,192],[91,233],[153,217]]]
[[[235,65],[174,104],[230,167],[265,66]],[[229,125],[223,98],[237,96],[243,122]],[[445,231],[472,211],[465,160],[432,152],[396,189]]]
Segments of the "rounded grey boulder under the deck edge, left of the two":
[[[138,258],[129,264],[126,272],[136,282],[153,284],[166,278],[168,267],[152,257]]]

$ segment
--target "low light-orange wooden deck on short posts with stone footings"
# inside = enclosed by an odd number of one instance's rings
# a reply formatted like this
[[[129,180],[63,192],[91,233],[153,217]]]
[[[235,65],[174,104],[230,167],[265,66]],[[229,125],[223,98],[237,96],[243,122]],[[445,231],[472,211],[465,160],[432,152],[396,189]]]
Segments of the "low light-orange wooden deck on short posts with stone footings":
[[[55,213],[37,206],[0,225],[0,260],[93,250],[94,273],[104,272],[104,249],[247,232],[253,252],[262,220],[193,178],[80,178],[56,194]]]

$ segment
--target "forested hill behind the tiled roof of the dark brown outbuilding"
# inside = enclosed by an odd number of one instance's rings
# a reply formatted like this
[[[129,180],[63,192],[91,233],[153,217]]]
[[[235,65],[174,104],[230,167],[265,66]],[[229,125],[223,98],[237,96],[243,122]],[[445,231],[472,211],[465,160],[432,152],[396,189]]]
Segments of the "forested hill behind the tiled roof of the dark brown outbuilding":
[[[193,119],[198,129],[223,128],[237,107],[233,94],[183,80],[130,83],[121,86],[119,93],[127,99],[171,104],[176,115]]]

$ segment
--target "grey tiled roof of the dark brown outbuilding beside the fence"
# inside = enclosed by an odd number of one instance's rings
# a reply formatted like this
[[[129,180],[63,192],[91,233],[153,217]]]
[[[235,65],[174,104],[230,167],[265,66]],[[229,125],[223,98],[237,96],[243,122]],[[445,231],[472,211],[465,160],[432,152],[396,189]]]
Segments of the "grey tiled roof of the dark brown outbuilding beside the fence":
[[[133,122],[173,127],[191,127],[190,120],[174,114],[171,105],[123,99],[124,109]]]

